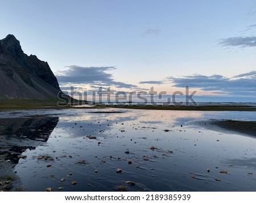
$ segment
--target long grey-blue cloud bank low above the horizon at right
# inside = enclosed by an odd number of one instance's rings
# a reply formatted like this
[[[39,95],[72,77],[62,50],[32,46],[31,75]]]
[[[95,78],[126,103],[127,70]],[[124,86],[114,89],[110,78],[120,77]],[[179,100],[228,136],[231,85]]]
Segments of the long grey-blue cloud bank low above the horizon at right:
[[[256,93],[256,71],[235,75],[231,78],[222,75],[188,75],[182,78],[168,77],[174,87],[200,88],[226,95],[248,95]]]

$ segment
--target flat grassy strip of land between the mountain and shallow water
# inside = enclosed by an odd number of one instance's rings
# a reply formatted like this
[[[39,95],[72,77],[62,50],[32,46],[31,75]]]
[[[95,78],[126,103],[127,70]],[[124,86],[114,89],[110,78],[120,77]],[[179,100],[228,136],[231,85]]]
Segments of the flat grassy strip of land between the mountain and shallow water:
[[[0,100],[0,111],[18,109],[91,109],[123,108],[168,111],[256,111],[256,105],[249,104],[203,104],[203,105],[143,105],[143,104],[67,104],[57,105],[57,100]]]

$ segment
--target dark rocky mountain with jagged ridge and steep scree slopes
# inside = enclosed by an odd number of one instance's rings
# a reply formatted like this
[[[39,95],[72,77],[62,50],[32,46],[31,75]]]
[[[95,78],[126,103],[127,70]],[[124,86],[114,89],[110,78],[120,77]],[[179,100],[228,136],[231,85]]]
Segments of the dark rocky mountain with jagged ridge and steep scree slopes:
[[[60,91],[47,62],[27,56],[14,35],[0,40],[0,99],[57,99]]]

